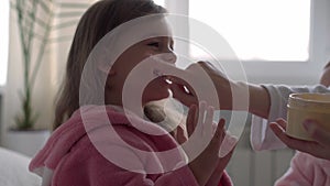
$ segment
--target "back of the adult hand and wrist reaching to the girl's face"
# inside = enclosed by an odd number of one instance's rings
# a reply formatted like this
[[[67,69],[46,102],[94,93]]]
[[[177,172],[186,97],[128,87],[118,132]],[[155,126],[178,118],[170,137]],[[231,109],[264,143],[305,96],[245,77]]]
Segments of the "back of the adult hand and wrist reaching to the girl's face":
[[[208,74],[216,87],[219,109],[244,110],[262,118],[268,117],[271,98],[264,87],[244,81],[233,81],[209,62],[193,64],[186,72],[190,73],[193,77],[195,76],[194,78],[198,81],[200,68]]]

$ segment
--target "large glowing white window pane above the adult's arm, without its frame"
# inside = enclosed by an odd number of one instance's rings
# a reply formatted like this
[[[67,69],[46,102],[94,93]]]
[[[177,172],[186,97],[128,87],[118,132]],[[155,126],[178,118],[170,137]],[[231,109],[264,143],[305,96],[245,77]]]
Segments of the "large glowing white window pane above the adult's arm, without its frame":
[[[309,57],[310,0],[189,1],[189,15],[218,31],[241,59]]]

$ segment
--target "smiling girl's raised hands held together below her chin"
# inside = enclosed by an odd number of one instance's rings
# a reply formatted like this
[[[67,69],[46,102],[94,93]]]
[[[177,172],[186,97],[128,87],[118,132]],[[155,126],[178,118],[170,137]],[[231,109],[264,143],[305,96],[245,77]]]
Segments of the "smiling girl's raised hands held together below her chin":
[[[222,158],[219,157],[220,145],[226,136],[224,120],[221,119],[219,121],[217,129],[213,132],[213,111],[212,107],[207,107],[205,102],[201,102],[199,108],[195,105],[191,106],[187,116],[188,140],[190,140],[190,138],[200,139],[196,144],[194,144],[196,149],[200,149],[201,145],[206,146],[205,150],[189,163],[189,167],[199,185],[209,185],[210,177],[215,179],[215,176],[218,176],[218,179],[216,179],[215,183],[219,184],[221,174],[231,157],[231,153]],[[205,112],[206,118],[204,119]],[[185,140],[184,138],[177,139]],[[179,143],[183,143],[180,140]],[[191,155],[189,152],[194,150],[185,151],[189,156]],[[191,156],[189,156],[189,158],[191,158]],[[215,172],[218,175],[213,174]]]

